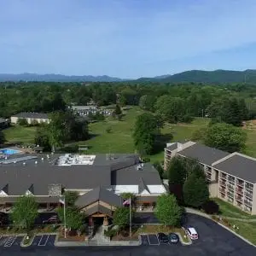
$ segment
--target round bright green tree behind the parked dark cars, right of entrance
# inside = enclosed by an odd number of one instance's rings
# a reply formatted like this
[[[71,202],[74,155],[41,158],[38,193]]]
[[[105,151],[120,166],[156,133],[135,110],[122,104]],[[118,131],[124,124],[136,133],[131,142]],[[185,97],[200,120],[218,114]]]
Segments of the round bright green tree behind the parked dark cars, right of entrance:
[[[181,224],[182,209],[177,205],[174,195],[160,195],[157,198],[155,215],[162,224],[179,226]]]

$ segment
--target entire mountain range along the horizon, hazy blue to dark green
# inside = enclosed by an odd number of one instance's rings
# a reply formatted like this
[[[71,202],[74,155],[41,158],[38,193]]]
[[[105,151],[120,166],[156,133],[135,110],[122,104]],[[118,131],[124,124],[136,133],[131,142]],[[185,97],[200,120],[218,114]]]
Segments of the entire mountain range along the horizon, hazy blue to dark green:
[[[122,82],[131,81],[128,79],[119,79],[104,76],[66,76],[60,74],[1,74],[0,81],[45,81],[45,82]],[[154,78],[135,79],[136,82],[160,82],[160,83],[207,83],[207,84],[225,84],[225,83],[250,83],[256,84],[256,70],[247,69],[245,71],[231,70],[190,70],[173,75],[161,75]]]

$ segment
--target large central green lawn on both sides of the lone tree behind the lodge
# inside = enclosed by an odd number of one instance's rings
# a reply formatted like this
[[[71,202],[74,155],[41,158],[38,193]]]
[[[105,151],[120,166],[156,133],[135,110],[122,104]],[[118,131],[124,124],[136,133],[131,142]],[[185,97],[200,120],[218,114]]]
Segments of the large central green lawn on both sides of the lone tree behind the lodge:
[[[109,118],[102,122],[90,124],[90,133],[96,135],[85,142],[89,146],[88,154],[96,153],[134,153],[132,131],[135,119],[138,114],[143,113],[140,108],[131,108],[126,111],[123,120]],[[170,125],[166,124],[162,134],[173,135],[172,141],[189,139],[192,133],[207,125],[207,119],[195,119],[191,125]],[[110,128],[111,132],[106,130]],[[150,156],[150,160],[164,160],[164,146],[158,154]]]

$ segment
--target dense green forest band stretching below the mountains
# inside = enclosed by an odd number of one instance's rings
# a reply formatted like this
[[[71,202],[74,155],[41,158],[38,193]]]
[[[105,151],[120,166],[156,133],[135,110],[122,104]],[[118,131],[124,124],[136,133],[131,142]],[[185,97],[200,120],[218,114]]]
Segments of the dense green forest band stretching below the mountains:
[[[256,87],[249,84],[5,82],[0,83],[0,117],[21,111],[50,113],[70,104],[86,105],[90,99],[99,106],[119,99],[121,106],[139,105],[169,122],[209,116],[241,125],[241,120],[256,116]]]

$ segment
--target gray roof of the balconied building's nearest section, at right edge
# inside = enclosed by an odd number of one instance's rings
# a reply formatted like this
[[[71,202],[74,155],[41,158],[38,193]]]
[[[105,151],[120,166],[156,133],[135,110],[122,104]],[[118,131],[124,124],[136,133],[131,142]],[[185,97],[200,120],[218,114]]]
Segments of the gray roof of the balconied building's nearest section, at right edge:
[[[250,183],[256,183],[256,160],[241,154],[234,154],[230,158],[214,165],[218,170],[240,177]]]

